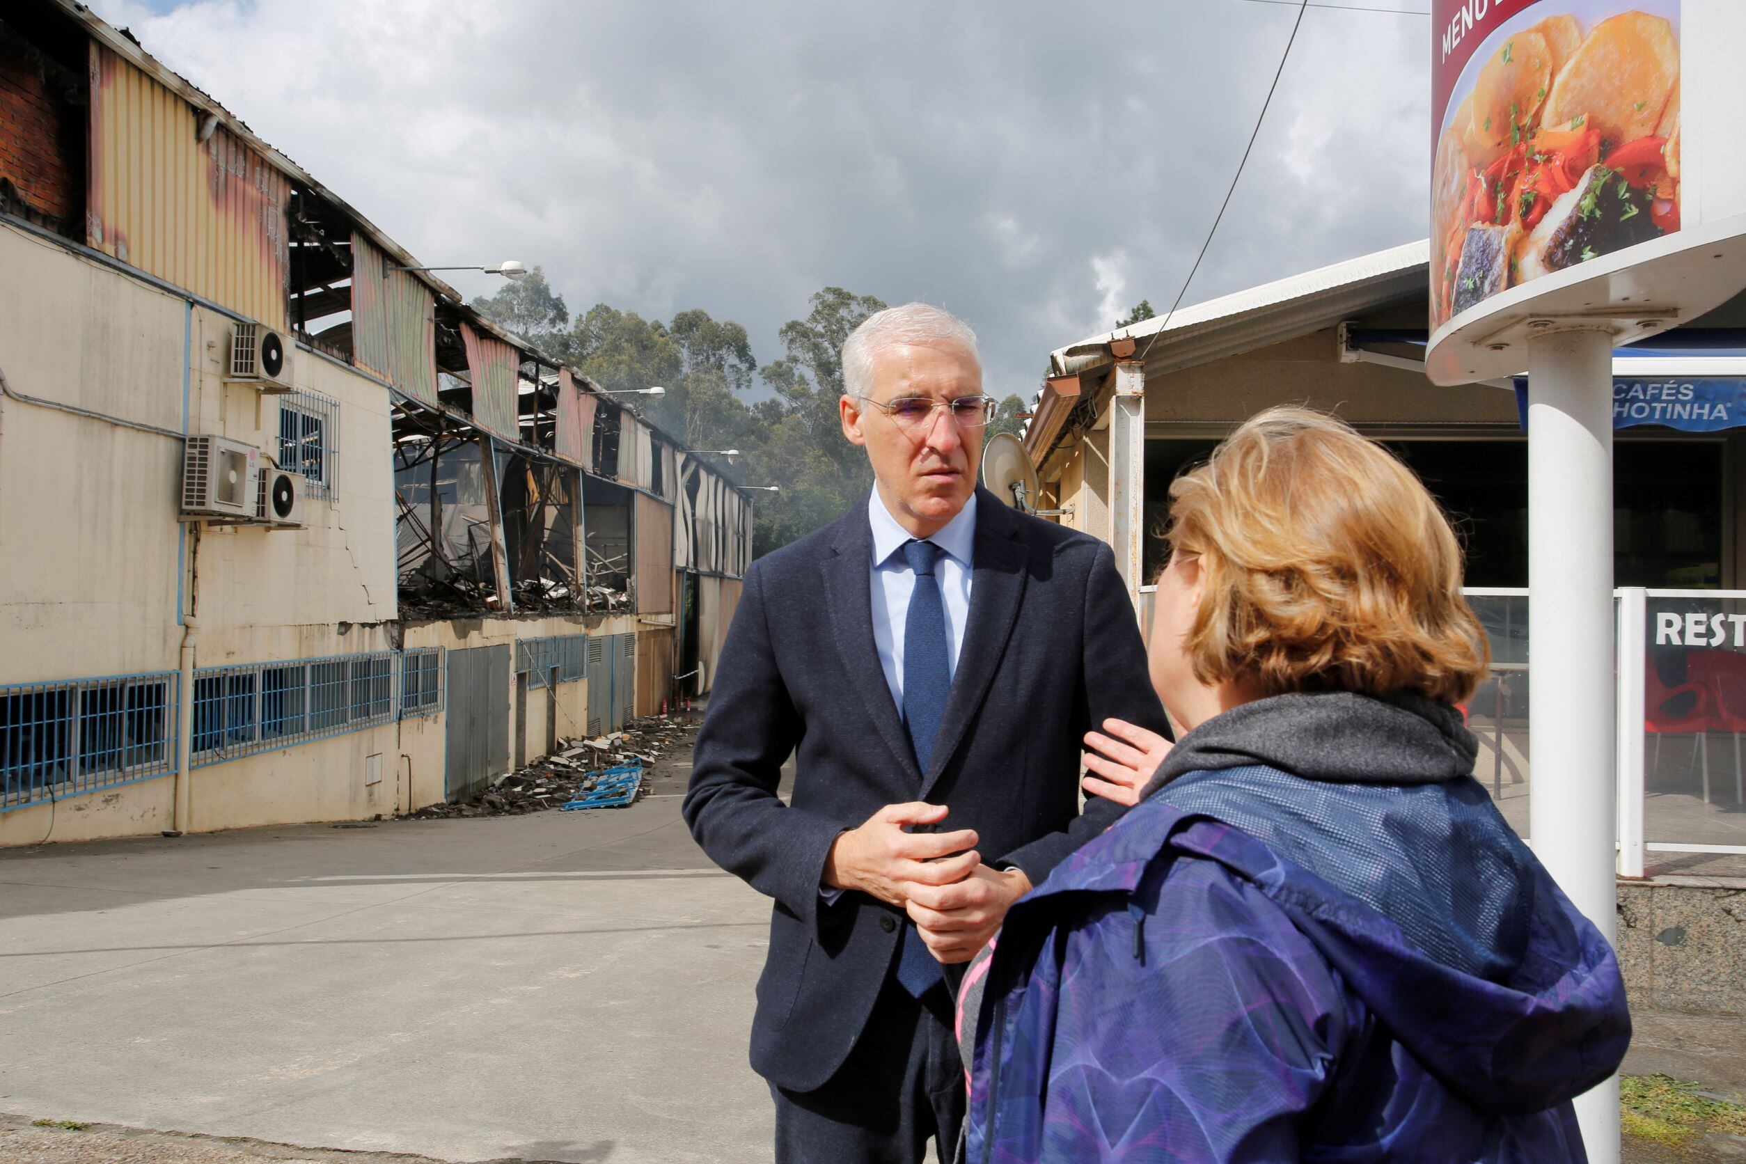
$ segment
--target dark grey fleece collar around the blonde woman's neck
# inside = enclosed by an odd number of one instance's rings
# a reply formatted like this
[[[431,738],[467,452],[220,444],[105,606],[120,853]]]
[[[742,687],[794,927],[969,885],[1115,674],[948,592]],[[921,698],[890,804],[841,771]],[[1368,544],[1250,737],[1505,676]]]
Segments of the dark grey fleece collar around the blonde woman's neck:
[[[1477,756],[1479,740],[1447,703],[1355,691],[1275,695],[1182,736],[1145,794],[1189,771],[1254,764],[1337,784],[1439,784],[1470,777]]]

